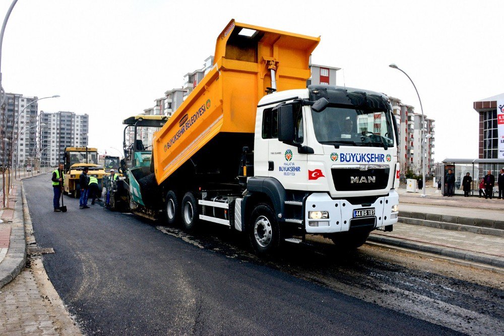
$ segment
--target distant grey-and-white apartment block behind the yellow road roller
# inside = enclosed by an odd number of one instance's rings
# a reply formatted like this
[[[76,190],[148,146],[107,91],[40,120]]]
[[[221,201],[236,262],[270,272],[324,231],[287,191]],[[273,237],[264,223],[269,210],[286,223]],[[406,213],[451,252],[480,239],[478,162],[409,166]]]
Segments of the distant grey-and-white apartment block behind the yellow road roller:
[[[87,114],[40,111],[37,129],[37,157],[43,166],[61,162],[66,147],[87,147],[89,143]]]

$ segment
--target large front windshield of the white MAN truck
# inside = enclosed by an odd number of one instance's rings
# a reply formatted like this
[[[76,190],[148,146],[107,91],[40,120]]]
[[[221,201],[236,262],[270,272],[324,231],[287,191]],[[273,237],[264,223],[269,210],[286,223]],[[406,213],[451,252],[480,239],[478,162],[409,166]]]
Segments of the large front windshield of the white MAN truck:
[[[311,111],[315,137],[321,144],[392,147],[394,129],[389,111],[327,107]]]

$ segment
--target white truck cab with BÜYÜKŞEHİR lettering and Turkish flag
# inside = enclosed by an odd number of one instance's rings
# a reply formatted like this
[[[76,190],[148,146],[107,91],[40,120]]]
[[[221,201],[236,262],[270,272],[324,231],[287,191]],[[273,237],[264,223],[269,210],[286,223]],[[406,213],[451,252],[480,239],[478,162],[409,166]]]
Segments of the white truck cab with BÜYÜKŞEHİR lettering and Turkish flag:
[[[280,190],[273,207],[288,216],[279,218],[288,231],[359,232],[365,241],[397,222],[397,140],[383,94],[324,85],[268,95],[259,102],[247,190]]]

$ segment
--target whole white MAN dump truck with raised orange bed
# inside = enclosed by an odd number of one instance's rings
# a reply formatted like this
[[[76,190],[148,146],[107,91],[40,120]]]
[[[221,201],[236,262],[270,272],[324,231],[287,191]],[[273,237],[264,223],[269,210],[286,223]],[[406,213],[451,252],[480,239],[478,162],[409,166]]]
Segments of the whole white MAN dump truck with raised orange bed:
[[[391,229],[392,108],[380,93],[306,88],[319,41],[232,20],[217,37],[213,68],[154,135],[157,188],[148,193],[158,201],[145,206],[187,230],[243,231],[260,254],[305,234],[356,247],[371,230]],[[343,135],[348,119],[354,126]]]

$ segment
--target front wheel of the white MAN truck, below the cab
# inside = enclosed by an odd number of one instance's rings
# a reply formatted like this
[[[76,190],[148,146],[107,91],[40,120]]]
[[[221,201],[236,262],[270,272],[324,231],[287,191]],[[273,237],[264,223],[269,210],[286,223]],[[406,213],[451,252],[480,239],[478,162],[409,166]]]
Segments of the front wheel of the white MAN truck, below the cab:
[[[280,245],[280,228],[269,205],[256,206],[247,229],[250,243],[257,254],[268,255],[277,251]]]

